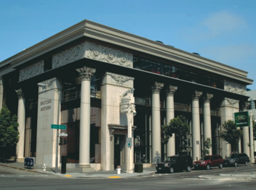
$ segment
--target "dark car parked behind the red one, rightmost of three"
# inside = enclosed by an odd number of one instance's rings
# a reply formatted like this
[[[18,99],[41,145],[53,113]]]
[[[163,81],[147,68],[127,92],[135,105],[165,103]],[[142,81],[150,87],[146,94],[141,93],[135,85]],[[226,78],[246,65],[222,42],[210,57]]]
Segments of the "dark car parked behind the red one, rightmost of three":
[[[224,160],[224,166],[228,165],[235,165],[238,164],[248,164],[249,163],[249,157],[245,153],[236,153],[236,154],[230,154],[225,160]]]

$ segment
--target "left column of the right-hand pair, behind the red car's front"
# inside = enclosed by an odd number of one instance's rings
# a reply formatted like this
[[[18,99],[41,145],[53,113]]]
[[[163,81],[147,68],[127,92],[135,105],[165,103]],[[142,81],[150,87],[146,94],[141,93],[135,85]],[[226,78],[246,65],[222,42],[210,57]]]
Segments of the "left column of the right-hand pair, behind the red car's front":
[[[192,96],[192,154],[193,160],[196,157],[200,159],[200,112],[199,112],[199,97],[201,96],[201,91],[195,91]]]

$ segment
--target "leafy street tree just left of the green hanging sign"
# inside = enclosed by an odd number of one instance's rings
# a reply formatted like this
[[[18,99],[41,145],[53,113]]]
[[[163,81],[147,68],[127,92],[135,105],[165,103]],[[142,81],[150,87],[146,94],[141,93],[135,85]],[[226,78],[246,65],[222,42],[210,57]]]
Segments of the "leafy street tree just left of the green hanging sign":
[[[243,133],[240,128],[236,127],[236,123],[233,120],[225,121],[223,124],[224,131],[220,133],[220,137],[231,144],[232,152],[236,149],[236,143],[241,139]]]

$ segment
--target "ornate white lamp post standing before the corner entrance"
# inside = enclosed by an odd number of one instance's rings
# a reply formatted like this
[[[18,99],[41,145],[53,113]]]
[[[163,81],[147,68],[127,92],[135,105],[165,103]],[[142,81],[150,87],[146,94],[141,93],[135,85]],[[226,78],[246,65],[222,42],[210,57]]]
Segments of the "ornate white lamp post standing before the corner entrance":
[[[133,113],[133,115],[136,115],[135,112],[135,104],[130,103],[131,97],[129,96],[128,99],[124,99],[124,96],[127,96],[127,94],[133,94],[135,91],[135,88],[130,88],[128,91],[125,91],[124,94],[121,96],[121,112],[127,113],[127,139],[132,139],[132,125],[131,125],[131,118],[130,118],[130,112]],[[132,158],[130,157],[132,155],[132,144],[127,144],[128,148],[128,160],[127,160],[127,173],[133,173],[132,168]]]

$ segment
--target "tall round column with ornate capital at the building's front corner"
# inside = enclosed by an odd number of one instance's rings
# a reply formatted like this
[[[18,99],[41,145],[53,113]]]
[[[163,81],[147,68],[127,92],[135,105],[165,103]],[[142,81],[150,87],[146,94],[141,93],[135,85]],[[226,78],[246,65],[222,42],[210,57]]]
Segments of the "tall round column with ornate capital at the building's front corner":
[[[81,76],[81,106],[80,106],[80,140],[79,140],[79,167],[83,172],[94,171],[89,164],[89,137],[91,112],[91,78],[95,69],[82,67],[77,69]]]

